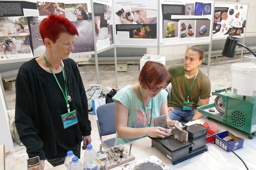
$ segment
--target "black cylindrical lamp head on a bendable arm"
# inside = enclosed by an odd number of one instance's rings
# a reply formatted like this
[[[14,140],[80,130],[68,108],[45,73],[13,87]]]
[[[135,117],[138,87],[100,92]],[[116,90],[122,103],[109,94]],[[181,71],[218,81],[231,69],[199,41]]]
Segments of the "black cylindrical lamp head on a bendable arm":
[[[229,58],[235,57],[235,52],[237,51],[237,43],[239,39],[233,36],[228,36],[221,52],[222,55]]]

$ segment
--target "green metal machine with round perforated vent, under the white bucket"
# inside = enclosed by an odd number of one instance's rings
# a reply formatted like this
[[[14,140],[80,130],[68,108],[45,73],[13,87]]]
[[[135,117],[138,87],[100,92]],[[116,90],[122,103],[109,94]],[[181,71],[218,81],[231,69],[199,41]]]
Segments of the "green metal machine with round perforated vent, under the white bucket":
[[[253,139],[256,134],[256,96],[237,95],[229,89],[226,90],[226,87],[215,89],[212,94],[222,99],[220,105],[224,110],[218,109],[218,104],[216,108],[215,102],[198,107],[198,111],[211,120],[228,125]]]

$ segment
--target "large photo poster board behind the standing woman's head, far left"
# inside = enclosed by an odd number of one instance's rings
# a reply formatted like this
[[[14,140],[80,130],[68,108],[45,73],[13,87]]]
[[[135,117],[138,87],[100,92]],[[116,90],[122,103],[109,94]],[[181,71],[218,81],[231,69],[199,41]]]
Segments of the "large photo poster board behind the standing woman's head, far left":
[[[0,9],[0,64],[7,63],[6,60],[24,61],[45,52],[39,24],[50,13],[66,17],[78,29],[80,36],[76,36],[69,57],[94,53],[90,0],[1,1]],[[9,46],[3,46],[5,41]]]

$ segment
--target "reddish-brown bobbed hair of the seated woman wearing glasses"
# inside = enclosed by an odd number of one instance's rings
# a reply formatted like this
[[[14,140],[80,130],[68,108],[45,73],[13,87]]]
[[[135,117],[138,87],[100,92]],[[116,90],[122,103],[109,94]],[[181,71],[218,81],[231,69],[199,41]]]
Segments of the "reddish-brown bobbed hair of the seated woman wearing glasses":
[[[147,61],[142,67],[139,76],[140,85],[147,88],[147,84],[161,84],[170,78],[169,72],[159,62]]]

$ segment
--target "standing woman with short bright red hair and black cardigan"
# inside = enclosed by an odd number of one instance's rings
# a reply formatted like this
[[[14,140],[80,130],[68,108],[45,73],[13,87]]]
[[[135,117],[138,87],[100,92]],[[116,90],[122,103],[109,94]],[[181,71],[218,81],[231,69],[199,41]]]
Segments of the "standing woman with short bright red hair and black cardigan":
[[[64,163],[73,150],[80,157],[91,143],[91,123],[83,82],[74,60],[78,31],[68,19],[49,15],[39,31],[45,54],[24,63],[16,79],[15,123],[29,158],[39,156],[44,166]]]

